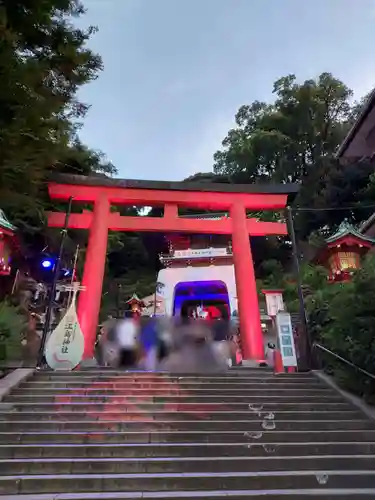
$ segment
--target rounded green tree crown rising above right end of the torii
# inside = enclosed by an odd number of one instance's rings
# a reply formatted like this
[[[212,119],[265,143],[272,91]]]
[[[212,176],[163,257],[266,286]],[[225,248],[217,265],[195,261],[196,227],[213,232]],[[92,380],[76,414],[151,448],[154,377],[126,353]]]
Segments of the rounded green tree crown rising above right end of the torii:
[[[301,181],[321,158],[332,156],[351,117],[351,90],[330,73],[296,82],[274,83],[275,102],[255,101],[236,115],[237,128],[215,153],[214,171],[247,182]]]

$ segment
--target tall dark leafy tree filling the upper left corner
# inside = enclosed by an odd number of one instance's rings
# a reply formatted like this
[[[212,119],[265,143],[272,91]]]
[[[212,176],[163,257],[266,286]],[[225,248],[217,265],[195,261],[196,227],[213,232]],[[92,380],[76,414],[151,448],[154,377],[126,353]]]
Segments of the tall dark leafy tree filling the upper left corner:
[[[82,14],[78,0],[4,0],[0,7],[0,199],[21,229],[41,225],[54,166],[61,171],[73,151],[86,161],[76,131],[88,106],[77,92],[102,63],[86,46],[95,28],[72,23]],[[98,166],[101,158],[91,160]]]

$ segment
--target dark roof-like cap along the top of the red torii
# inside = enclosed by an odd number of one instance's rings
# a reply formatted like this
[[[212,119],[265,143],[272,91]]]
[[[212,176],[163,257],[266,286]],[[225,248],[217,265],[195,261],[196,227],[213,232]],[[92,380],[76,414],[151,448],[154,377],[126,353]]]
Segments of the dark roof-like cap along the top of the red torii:
[[[79,186],[115,187],[132,189],[154,189],[168,191],[202,191],[217,193],[245,194],[284,194],[289,195],[289,202],[299,191],[297,184],[223,184],[208,182],[176,182],[139,179],[114,179],[106,176],[84,176],[57,174],[50,177],[50,182]]]

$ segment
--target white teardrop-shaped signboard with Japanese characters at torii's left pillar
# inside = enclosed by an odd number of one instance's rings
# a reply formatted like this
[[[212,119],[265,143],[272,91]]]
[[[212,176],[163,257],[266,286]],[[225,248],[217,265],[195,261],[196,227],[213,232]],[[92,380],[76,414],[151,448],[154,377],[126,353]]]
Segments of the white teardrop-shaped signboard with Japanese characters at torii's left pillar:
[[[53,370],[73,370],[82,360],[85,339],[76,311],[76,293],[65,316],[49,336],[45,357]]]

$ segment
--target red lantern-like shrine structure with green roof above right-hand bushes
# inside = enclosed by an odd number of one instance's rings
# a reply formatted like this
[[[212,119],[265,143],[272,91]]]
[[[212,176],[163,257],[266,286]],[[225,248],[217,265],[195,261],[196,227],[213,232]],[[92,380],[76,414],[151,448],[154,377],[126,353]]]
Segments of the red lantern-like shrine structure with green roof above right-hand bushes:
[[[361,267],[362,257],[374,246],[375,238],[366,236],[344,221],[338,230],[325,240],[314,261],[328,270],[331,282],[349,281],[354,270]]]

